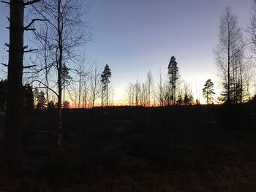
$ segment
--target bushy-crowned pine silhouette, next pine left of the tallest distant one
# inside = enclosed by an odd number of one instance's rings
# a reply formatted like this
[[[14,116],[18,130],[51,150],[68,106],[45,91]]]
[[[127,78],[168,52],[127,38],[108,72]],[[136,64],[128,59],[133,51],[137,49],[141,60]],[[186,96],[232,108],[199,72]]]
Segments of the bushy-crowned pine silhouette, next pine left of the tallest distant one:
[[[103,106],[103,96],[105,94],[106,98],[106,105],[108,106],[108,84],[110,83],[110,78],[111,78],[111,72],[110,68],[107,65],[105,65],[104,71],[101,74],[102,79],[100,80],[102,82],[102,106]]]

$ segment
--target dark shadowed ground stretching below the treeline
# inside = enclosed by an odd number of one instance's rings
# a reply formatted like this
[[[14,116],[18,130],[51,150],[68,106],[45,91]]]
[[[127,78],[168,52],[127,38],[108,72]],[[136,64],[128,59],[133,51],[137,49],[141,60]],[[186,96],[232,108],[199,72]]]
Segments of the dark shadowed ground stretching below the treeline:
[[[56,116],[25,115],[23,168],[0,169],[1,192],[256,190],[252,106],[65,110],[61,150]]]

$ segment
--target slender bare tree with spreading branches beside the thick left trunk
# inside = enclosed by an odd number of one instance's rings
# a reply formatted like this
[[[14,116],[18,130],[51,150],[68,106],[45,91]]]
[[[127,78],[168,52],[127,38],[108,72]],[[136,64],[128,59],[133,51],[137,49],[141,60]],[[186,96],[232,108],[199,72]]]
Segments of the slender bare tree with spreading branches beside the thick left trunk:
[[[83,8],[85,7],[76,0],[42,0],[39,7],[34,7],[36,14],[47,20],[45,24],[48,29],[48,47],[50,47],[52,52],[48,58],[50,60],[48,62],[48,69],[54,70],[54,73],[57,74],[56,83],[53,83],[52,88],[47,87],[42,81],[40,83],[55,93],[58,99],[59,126],[57,128],[56,142],[59,148],[62,141],[63,66],[64,63],[72,63],[78,58],[77,48],[91,40],[90,32],[89,30],[86,31],[88,28],[86,28],[85,23],[81,20],[84,15],[82,12]],[[43,28],[41,29],[43,31]],[[45,33],[39,33],[37,37],[44,39],[45,36],[43,34]],[[45,65],[43,69],[45,69]],[[40,69],[37,71],[42,72]],[[55,87],[55,85],[57,86]]]

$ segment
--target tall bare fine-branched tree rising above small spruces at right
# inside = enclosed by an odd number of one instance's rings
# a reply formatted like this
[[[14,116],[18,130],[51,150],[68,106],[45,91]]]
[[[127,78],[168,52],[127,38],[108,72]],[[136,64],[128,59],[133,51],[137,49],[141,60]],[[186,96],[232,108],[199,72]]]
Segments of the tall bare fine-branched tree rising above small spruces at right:
[[[231,79],[233,85],[236,85],[236,74],[238,69],[238,57],[242,53],[243,38],[241,29],[238,27],[238,18],[226,7],[222,16],[219,31],[219,45],[217,47],[216,60],[217,66],[224,80],[223,88],[227,89],[226,103],[232,103],[231,97]],[[241,57],[240,57],[241,58]]]

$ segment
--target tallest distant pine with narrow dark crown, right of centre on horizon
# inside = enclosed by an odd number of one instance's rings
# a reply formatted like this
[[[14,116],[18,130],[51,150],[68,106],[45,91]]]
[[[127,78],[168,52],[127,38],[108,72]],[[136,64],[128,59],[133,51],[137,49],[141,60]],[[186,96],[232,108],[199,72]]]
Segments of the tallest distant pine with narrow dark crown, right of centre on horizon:
[[[170,91],[171,91],[171,100],[172,104],[175,104],[176,101],[176,81],[178,80],[178,66],[176,58],[172,56],[168,65],[168,74],[170,80]]]

